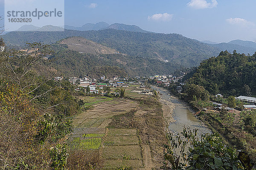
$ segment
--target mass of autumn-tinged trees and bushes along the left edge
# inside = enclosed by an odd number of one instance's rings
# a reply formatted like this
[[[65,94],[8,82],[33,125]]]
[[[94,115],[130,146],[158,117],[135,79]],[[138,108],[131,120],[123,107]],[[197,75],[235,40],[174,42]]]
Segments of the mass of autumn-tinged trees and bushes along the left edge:
[[[51,51],[41,43],[29,47],[0,52],[0,169],[76,169],[80,160],[85,169],[100,167],[99,157],[67,148],[68,117],[80,112],[75,87],[38,74]]]

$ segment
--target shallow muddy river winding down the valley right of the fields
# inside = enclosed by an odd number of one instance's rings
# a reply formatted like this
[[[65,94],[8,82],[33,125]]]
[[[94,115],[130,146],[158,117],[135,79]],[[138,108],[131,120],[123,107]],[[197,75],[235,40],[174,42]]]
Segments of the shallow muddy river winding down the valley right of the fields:
[[[173,110],[173,118],[175,122],[171,122],[169,124],[169,130],[172,133],[180,133],[183,131],[183,126],[190,127],[191,129],[198,129],[198,135],[203,133],[211,133],[209,129],[199,121],[191,111],[189,111],[188,107],[180,102],[180,100],[173,98],[168,91],[153,87],[154,90],[159,91],[161,99],[167,100],[169,102],[175,103],[176,107]]]

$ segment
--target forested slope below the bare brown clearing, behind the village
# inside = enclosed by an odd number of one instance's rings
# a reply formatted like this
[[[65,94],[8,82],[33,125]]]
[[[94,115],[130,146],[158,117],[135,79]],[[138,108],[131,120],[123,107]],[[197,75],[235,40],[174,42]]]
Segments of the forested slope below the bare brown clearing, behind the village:
[[[79,37],[80,38],[80,37]],[[172,74],[175,66],[170,62],[162,62],[159,59],[131,57],[126,54],[87,54],[71,50],[66,44],[56,43],[51,45],[55,51],[49,57],[45,66],[57,71],[58,76],[100,77],[105,75],[141,76],[152,74]],[[41,68],[41,72],[47,71]]]

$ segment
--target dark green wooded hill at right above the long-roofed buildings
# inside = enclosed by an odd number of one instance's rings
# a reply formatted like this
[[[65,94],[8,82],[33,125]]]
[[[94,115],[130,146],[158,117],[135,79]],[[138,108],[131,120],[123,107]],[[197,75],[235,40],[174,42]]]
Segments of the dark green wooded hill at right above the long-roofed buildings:
[[[211,94],[256,95],[256,53],[253,56],[221,51],[201,62],[186,77],[188,84],[202,85]]]

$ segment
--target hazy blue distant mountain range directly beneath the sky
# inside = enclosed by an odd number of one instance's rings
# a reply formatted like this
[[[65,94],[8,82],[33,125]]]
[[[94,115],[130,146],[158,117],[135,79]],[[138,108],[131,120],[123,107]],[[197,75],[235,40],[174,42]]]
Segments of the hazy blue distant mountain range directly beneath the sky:
[[[20,47],[23,47],[25,42],[40,41],[51,44],[67,37],[84,37],[131,57],[169,61],[175,67],[172,69],[197,66],[202,60],[216,56],[219,51],[225,51],[226,49],[228,51],[236,49],[245,54],[256,51],[254,48],[228,43],[206,44],[183,37],[180,34],[142,33],[115,29],[99,31],[65,30],[63,32],[14,31],[2,37],[10,45],[20,45]]]

